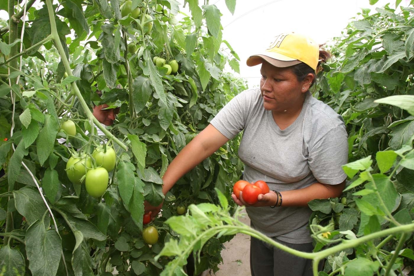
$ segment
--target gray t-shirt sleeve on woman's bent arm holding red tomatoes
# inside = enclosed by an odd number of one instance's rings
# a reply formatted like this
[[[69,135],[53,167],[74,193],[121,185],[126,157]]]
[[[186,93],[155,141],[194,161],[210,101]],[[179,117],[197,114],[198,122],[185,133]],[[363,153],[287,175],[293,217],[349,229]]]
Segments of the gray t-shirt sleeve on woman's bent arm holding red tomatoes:
[[[308,164],[318,182],[339,184],[347,178],[342,169],[348,162],[347,137],[344,125],[335,126],[310,150]]]

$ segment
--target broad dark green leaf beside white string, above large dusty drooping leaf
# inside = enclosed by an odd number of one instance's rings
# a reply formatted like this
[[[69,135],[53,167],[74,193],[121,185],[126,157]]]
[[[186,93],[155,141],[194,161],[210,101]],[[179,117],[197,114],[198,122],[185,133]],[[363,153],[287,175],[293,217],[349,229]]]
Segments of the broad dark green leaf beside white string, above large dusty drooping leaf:
[[[13,197],[17,211],[26,218],[29,225],[40,220],[47,210],[38,190],[23,187],[13,191]]]

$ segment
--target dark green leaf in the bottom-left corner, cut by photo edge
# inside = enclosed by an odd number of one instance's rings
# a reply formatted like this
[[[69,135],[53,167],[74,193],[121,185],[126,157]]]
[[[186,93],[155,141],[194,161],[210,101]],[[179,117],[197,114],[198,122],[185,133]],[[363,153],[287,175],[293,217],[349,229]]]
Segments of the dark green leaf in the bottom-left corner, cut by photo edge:
[[[24,275],[26,272],[22,253],[8,244],[0,248],[0,271],[2,276]]]

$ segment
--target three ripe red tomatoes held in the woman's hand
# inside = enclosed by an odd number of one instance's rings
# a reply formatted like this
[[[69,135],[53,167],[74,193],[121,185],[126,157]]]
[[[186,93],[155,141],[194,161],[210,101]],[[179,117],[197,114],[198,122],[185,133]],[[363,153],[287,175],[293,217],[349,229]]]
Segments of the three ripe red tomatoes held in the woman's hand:
[[[263,180],[258,180],[254,184],[245,180],[239,180],[233,186],[233,194],[240,199],[240,192],[242,192],[241,196],[246,203],[255,204],[258,202],[258,196],[260,194],[267,194],[270,192],[270,189]]]

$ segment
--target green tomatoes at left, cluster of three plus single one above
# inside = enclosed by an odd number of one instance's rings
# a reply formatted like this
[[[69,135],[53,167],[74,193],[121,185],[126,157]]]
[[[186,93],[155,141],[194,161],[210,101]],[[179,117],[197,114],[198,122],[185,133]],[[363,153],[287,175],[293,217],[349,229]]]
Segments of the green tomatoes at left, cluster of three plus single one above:
[[[76,126],[72,120],[63,122],[61,128],[70,136],[76,135]],[[91,158],[94,160],[94,167]],[[94,149],[92,155],[72,155],[66,163],[66,174],[72,184],[84,183],[89,195],[101,197],[108,188],[108,172],[115,168],[115,163],[115,150],[111,146],[100,145]]]

